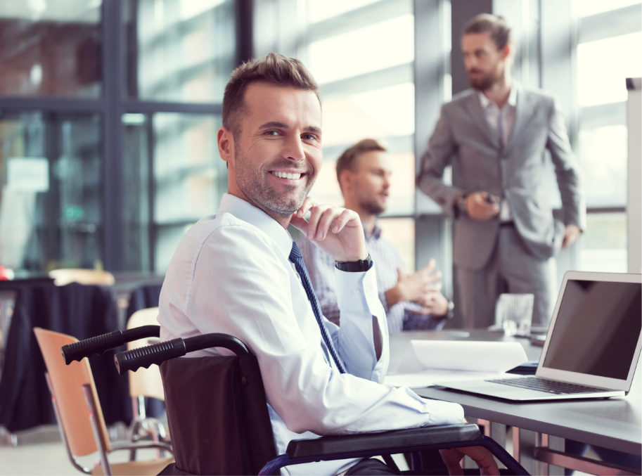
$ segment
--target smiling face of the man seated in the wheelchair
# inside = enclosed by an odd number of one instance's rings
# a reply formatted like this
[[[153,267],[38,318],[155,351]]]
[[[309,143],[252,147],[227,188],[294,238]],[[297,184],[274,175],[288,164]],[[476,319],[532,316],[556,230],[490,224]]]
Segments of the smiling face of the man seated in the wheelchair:
[[[314,184],[321,153],[321,105],[312,91],[253,83],[245,90],[228,163],[229,192],[271,217],[290,217]]]

